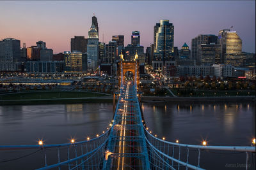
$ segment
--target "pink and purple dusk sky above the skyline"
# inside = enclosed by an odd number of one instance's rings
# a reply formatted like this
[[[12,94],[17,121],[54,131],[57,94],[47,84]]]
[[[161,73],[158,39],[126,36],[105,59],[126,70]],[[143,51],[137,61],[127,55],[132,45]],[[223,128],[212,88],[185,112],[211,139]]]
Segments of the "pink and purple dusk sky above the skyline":
[[[140,31],[141,45],[153,43],[156,22],[174,25],[179,48],[198,34],[218,34],[233,26],[244,52],[255,52],[255,1],[0,1],[0,39],[20,39],[27,46],[46,42],[54,53],[70,50],[70,38],[88,37],[92,16],[98,19],[100,41]]]

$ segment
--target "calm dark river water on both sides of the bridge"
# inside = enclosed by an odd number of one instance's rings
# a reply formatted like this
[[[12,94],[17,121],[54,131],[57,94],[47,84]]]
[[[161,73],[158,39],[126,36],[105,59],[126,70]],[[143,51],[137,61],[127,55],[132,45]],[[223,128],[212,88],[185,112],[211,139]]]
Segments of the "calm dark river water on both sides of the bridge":
[[[150,131],[168,141],[200,145],[205,139],[209,145],[250,146],[255,138],[254,103],[144,103],[142,109]],[[45,144],[67,143],[70,138],[81,141],[106,131],[112,117],[111,103],[0,106],[0,145],[35,145],[38,139]],[[218,169],[234,169],[234,164],[241,169],[237,162],[242,167],[246,160],[245,153],[228,155],[225,160],[227,153],[212,154],[214,160],[202,158],[203,167],[216,169],[218,161]],[[0,169],[38,167],[27,164],[29,158],[1,163],[11,158],[0,151]],[[252,160],[249,164],[255,167]]]

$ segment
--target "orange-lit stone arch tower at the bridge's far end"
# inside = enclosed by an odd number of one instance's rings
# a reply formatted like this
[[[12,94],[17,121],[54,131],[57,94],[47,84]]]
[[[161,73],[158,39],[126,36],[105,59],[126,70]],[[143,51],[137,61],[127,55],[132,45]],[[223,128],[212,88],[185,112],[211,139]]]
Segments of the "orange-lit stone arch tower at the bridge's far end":
[[[131,71],[132,80],[134,85],[138,85],[140,83],[140,62],[138,60],[138,54],[136,52],[135,58],[133,61],[124,60],[124,55],[120,54],[120,62],[118,62],[118,85],[124,85],[125,82],[125,73]]]

